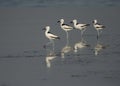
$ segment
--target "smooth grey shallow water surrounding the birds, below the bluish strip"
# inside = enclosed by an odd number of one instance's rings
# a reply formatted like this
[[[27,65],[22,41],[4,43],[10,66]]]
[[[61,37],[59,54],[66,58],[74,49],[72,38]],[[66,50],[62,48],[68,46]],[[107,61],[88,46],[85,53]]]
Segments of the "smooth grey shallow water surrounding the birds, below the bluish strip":
[[[0,85],[119,86],[119,15],[119,8],[1,8]],[[75,52],[75,44],[81,42],[80,31],[70,31],[67,44],[57,23],[60,18],[66,23],[76,18],[90,24],[98,19],[106,29],[97,41],[95,29],[88,27],[83,39],[90,47]],[[55,41],[54,51],[51,45],[44,48],[49,42],[42,31],[46,25],[61,38]],[[106,48],[95,55],[97,44]]]

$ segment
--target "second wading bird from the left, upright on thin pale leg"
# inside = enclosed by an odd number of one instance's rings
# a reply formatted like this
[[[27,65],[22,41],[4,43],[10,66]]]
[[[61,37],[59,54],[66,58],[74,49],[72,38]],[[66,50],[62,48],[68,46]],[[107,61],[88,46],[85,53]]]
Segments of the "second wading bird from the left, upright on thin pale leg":
[[[71,27],[68,24],[64,24],[64,19],[60,19],[58,23],[60,22],[60,27],[66,32],[66,38],[67,38],[67,43],[68,43],[68,31],[72,30],[73,27]]]

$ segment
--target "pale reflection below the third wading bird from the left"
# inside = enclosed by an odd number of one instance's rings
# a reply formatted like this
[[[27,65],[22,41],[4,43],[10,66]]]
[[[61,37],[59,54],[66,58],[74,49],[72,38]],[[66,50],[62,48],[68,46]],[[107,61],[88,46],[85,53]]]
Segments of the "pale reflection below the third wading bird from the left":
[[[78,52],[78,49],[83,49],[83,48],[86,48],[86,47],[90,47],[89,44],[87,44],[87,42],[84,40],[84,38],[82,37],[82,39],[75,43],[74,45],[74,52]]]

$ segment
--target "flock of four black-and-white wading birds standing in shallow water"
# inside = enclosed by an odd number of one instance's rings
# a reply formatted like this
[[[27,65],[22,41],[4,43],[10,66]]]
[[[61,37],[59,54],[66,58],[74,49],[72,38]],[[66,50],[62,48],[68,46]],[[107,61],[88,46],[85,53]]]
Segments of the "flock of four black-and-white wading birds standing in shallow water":
[[[81,37],[82,37],[83,32],[86,30],[86,28],[87,28],[88,26],[90,26],[90,24],[81,24],[81,23],[78,23],[76,19],[74,19],[74,20],[72,20],[72,21],[70,22],[70,23],[73,23],[74,27],[72,27],[72,26],[70,26],[70,25],[68,25],[68,24],[65,24],[65,23],[64,23],[64,19],[60,19],[60,20],[58,21],[58,23],[60,23],[60,27],[66,32],[66,37],[67,37],[67,39],[68,39],[68,31],[71,31],[71,30],[73,30],[74,28],[75,28],[75,29],[79,29],[79,30],[81,31]],[[95,28],[96,31],[97,31],[97,39],[98,39],[101,30],[104,29],[105,26],[102,25],[102,24],[99,24],[96,19],[93,21],[93,26],[94,26],[94,28]],[[53,40],[54,40],[54,39],[60,39],[59,36],[57,36],[57,35],[55,35],[55,34],[52,34],[52,33],[50,32],[50,26],[46,26],[43,30],[46,30],[46,31],[45,31],[45,36],[50,40],[49,43],[53,43]],[[49,43],[48,43],[48,44],[49,44]],[[54,44],[54,43],[53,43],[53,44]],[[53,46],[54,46],[54,45],[53,45]]]

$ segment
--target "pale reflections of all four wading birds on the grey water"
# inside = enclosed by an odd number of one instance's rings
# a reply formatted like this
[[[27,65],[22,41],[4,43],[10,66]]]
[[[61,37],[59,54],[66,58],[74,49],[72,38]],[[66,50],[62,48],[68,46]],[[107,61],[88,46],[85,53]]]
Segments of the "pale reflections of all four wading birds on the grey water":
[[[68,40],[68,39],[66,39]],[[54,47],[54,46],[53,46]],[[66,54],[70,54],[71,52],[77,53],[79,50],[89,49],[91,47],[90,44],[82,37],[80,41],[76,42],[73,46],[70,46],[69,40],[66,41],[65,46],[61,49],[60,55],[61,58],[64,59]],[[108,45],[103,44],[100,40],[97,39],[95,46],[92,48],[94,49],[94,54],[97,56],[102,50],[106,49]],[[54,49],[50,47],[46,47],[46,66],[47,68],[51,68],[51,63],[55,61],[57,54],[55,53]]]

